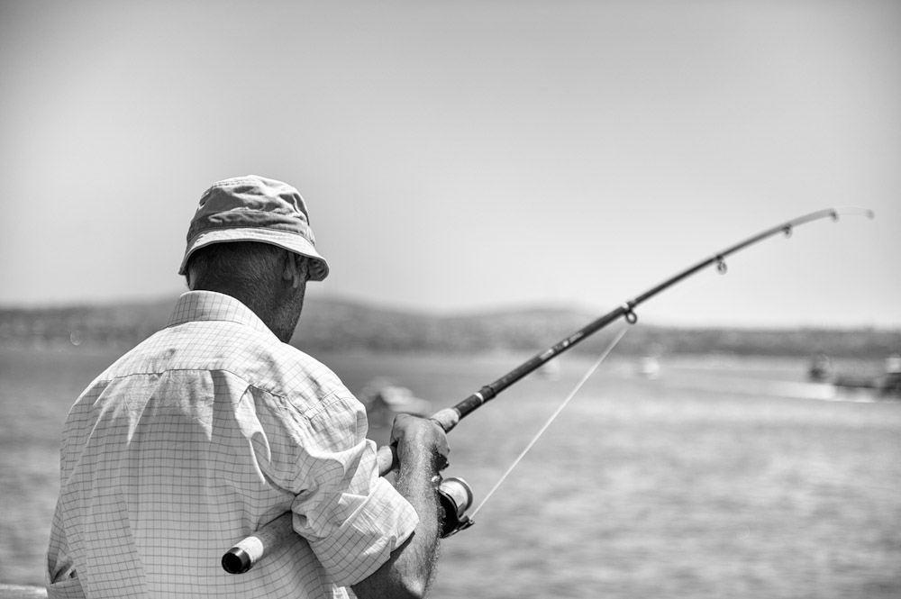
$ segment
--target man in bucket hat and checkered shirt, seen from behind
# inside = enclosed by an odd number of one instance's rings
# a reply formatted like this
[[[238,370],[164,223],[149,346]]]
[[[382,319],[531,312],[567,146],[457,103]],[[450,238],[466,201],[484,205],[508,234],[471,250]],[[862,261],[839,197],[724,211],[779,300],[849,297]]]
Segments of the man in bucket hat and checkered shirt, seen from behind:
[[[378,476],[366,413],[287,345],[328,275],[303,198],[262,177],[203,195],[168,327],[78,398],[63,431],[50,597],[423,596],[447,438],[398,417]],[[297,534],[243,575],[223,551],[281,513]]]

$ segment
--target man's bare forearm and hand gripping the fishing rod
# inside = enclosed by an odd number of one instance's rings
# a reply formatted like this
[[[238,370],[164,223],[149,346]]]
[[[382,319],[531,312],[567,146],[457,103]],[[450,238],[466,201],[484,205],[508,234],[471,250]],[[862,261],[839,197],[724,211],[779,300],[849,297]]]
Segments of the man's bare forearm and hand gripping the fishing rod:
[[[446,464],[447,437],[435,422],[400,414],[391,439],[396,443],[399,463],[395,486],[413,505],[419,524],[387,562],[352,586],[359,599],[424,597],[438,558],[441,518],[435,481]]]

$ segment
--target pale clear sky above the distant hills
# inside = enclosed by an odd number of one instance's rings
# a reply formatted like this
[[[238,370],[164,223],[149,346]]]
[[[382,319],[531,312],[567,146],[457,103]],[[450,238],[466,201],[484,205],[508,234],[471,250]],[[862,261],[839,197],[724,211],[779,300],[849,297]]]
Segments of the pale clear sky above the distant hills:
[[[310,295],[901,327],[901,3],[0,0],[0,305],[184,291],[214,181],[296,186]]]

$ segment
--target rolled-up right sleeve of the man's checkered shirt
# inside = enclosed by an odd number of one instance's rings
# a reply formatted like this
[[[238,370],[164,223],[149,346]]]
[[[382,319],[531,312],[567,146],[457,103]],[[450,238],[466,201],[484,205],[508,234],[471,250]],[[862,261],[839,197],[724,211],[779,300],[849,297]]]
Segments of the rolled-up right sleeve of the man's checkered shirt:
[[[353,585],[387,561],[419,517],[378,476],[376,445],[366,439],[365,409],[350,392],[333,392],[297,408],[278,409],[284,427],[278,436],[288,450],[270,453],[267,476],[296,495],[294,530],[309,542],[332,582]]]

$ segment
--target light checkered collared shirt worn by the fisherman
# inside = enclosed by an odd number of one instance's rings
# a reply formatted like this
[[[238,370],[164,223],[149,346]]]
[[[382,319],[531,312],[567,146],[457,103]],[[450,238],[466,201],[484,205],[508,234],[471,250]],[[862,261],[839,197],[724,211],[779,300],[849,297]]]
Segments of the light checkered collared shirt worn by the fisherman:
[[[347,596],[418,522],[366,431],[338,377],[246,306],[182,295],[68,414],[50,597]],[[290,542],[223,570],[225,549],[287,511]]]

